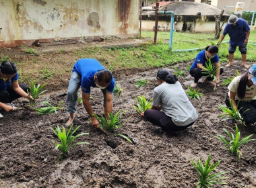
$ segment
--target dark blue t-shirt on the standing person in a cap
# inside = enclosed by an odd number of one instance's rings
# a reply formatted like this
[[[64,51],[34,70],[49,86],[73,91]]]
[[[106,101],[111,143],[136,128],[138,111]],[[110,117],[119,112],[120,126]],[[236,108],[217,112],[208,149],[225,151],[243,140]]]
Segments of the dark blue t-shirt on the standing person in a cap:
[[[231,45],[236,44],[237,46],[242,46],[249,30],[250,27],[245,19],[238,18],[236,26],[230,26],[229,23],[226,24],[223,34],[229,35]]]

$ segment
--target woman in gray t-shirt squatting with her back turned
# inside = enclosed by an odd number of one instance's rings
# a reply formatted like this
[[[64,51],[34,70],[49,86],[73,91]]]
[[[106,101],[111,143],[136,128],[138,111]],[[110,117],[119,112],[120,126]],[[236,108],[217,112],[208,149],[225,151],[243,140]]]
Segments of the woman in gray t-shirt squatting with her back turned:
[[[168,133],[176,133],[192,126],[198,114],[177,77],[168,70],[161,69],[156,79],[158,87],[153,92],[152,108],[142,112],[141,116]]]

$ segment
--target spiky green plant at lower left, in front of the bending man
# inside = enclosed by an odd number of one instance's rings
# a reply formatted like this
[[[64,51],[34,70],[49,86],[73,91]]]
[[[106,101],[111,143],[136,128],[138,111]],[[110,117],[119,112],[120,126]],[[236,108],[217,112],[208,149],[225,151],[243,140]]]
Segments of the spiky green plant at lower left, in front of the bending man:
[[[64,154],[67,154],[67,152],[69,151],[70,148],[72,148],[75,145],[90,144],[89,142],[76,142],[75,144],[73,144],[73,142],[75,141],[76,138],[78,138],[79,136],[82,136],[82,135],[88,135],[89,133],[81,133],[81,134],[77,134],[77,135],[73,136],[73,134],[75,134],[75,132],[79,129],[80,126],[75,128],[75,130],[73,130],[73,132],[71,132],[72,127],[73,127],[73,124],[70,126],[67,133],[63,126],[62,126],[62,131],[59,128],[59,126],[57,126],[55,128],[55,130],[52,128],[54,134],[61,141],[61,143],[58,143],[58,142],[51,140],[53,142],[53,144],[55,144],[55,149],[59,148],[59,150],[61,150],[61,153],[62,153],[61,158],[64,156]]]

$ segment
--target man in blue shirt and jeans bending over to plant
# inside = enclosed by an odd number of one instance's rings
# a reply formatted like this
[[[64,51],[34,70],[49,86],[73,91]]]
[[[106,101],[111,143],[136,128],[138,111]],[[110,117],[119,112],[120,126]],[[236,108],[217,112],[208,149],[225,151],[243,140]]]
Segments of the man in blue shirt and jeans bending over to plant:
[[[108,114],[113,109],[113,91],[115,87],[115,80],[110,71],[106,70],[104,66],[96,59],[82,58],[75,62],[72,70],[69,87],[67,89],[67,113],[69,113],[69,120],[66,125],[73,124],[76,111],[77,91],[81,86],[83,105],[90,115],[92,125],[96,128],[99,126],[98,120],[93,116],[94,111],[90,105],[90,91],[91,87],[98,87],[101,89],[104,96],[104,115],[108,118]]]

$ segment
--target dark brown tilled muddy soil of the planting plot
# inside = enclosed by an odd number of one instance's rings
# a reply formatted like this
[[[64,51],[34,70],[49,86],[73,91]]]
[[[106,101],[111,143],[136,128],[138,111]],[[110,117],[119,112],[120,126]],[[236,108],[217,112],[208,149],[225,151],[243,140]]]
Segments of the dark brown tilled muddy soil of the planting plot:
[[[185,69],[189,64],[191,62],[176,66]],[[167,68],[174,70],[174,66]],[[235,76],[234,70],[246,71],[241,68],[241,62],[234,62],[232,67],[224,68],[221,80]],[[243,157],[238,160],[216,139],[216,134],[225,135],[223,128],[234,130],[234,126],[224,125],[218,118],[227,87],[221,85],[213,91],[199,84],[197,88],[204,96],[201,101],[193,101],[199,119],[177,136],[168,136],[139,117],[132,107],[137,95],[152,97],[157,85],[156,73],[157,69],[135,75],[133,71],[115,74],[124,91],[121,97],[114,98],[114,112],[121,109],[125,120],[116,132],[127,135],[134,144],[93,128],[84,107],[77,103],[75,126],[82,125],[78,132],[90,133],[77,140],[90,142],[90,145],[71,148],[69,156],[57,163],[60,152],[51,142],[57,141],[51,128],[65,125],[65,111],[49,115],[37,115],[28,109],[13,113],[1,111],[4,117],[0,119],[0,187],[196,187],[198,178],[190,159],[201,158],[204,162],[210,154],[212,162],[222,160],[216,172],[230,171],[228,185],[215,187],[256,187],[256,142],[242,146]],[[139,79],[147,79],[150,84],[138,89],[133,84]],[[188,73],[179,81],[187,89],[192,79]],[[66,89],[44,95],[38,101],[47,100],[57,105],[65,101]],[[100,115],[103,111],[100,89],[92,89],[92,97],[94,112]],[[15,101],[15,105],[26,107],[28,102]],[[240,127],[240,130],[242,137],[253,134],[247,128]]]

